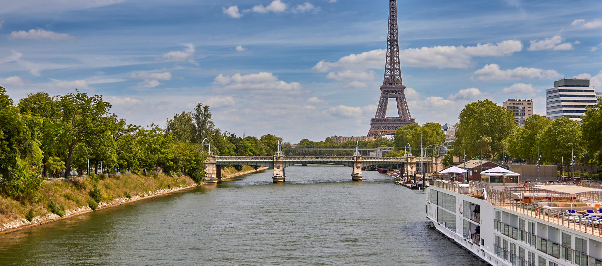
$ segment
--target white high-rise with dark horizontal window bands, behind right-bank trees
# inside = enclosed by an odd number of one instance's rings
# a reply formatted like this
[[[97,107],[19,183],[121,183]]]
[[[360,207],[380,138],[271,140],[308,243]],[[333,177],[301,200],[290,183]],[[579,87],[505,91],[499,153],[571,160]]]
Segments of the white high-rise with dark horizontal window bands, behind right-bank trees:
[[[552,120],[566,116],[582,121],[587,107],[598,103],[594,88],[589,87],[589,79],[559,79],[554,82],[554,88],[545,90],[545,94],[545,114]]]

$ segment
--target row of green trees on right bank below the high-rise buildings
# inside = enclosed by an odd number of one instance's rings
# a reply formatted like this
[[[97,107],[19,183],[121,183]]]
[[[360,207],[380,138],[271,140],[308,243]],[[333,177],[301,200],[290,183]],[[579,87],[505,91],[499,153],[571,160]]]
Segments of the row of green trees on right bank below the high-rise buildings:
[[[602,165],[602,101],[577,122],[534,115],[523,127],[515,125],[512,111],[491,101],[468,104],[456,124],[452,154],[467,158],[525,159],[541,163],[576,162]]]

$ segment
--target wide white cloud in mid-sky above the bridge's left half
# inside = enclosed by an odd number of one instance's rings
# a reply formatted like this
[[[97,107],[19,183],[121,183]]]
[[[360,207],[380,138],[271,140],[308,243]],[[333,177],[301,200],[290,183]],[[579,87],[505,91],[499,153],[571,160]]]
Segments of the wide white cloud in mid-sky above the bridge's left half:
[[[281,81],[278,76],[269,72],[259,72],[248,75],[236,73],[232,76],[220,74],[213,80],[213,84],[221,85],[222,90],[245,91],[276,91],[299,93],[302,90],[299,82]]]

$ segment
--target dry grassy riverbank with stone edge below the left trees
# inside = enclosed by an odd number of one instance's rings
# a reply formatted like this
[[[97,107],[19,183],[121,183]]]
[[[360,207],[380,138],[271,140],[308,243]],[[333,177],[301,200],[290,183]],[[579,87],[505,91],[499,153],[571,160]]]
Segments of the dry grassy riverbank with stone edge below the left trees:
[[[267,169],[255,170],[244,165],[241,172],[225,167],[222,179],[234,178]],[[39,196],[29,202],[6,199],[0,196],[0,235],[28,227],[74,217],[92,211],[119,206],[140,199],[160,196],[196,187],[192,179],[184,175],[164,174],[98,176],[82,181],[57,181],[42,184]]]

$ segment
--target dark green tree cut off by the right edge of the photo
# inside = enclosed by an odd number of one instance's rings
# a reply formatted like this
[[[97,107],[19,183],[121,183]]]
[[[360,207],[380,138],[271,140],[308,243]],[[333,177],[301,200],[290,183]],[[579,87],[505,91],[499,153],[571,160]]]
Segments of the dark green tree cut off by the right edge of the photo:
[[[588,108],[583,119],[583,144],[594,156],[597,165],[602,165],[602,101]]]

